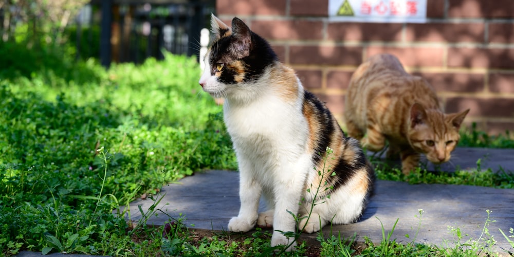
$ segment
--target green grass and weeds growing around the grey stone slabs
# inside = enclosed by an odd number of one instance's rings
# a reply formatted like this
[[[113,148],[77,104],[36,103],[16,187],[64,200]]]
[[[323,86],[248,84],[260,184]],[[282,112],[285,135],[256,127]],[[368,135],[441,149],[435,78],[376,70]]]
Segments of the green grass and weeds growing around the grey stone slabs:
[[[128,224],[112,213],[193,172],[237,168],[221,106],[197,85],[200,71],[194,59],[166,54],[164,61],[104,70],[95,60],[74,63],[53,50],[26,51],[14,44],[0,51],[16,53],[0,52],[0,63],[11,64],[0,66],[0,255],[20,250],[113,256],[278,254],[269,246],[267,231],[194,237],[183,226],[187,213],[160,228]],[[509,134],[490,137],[473,129],[462,138],[461,146],[514,148]],[[420,170],[408,177],[383,166],[377,176],[411,183],[514,185],[512,175],[480,170],[480,163],[476,172]],[[319,237],[314,250],[299,242],[296,252],[281,254],[437,251],[398,244],[387,233],[384,238],[383,245],[357,249],[352,238]]]

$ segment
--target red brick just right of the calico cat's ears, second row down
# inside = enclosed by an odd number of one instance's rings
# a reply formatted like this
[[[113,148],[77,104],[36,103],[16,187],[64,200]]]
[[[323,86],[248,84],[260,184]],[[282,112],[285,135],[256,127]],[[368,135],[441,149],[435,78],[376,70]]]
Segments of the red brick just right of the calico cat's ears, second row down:
[[[320,21],[253,21],[251,30],[268,40],[321,40]]]

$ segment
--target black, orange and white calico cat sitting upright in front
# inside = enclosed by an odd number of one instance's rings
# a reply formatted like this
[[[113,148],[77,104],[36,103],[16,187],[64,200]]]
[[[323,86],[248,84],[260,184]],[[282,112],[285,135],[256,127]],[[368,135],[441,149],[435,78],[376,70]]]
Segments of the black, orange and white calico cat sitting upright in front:
[[[289,212],[305,217],[316,204],[310,220],[298,225],[308,233],[328,222],[355,222],[374,181],[359,142],[343,134],[295,71],[243,21],[235,17],[229,28],[212,15],[211,24],[215,39],[199,84],[225,99],[224,121],[240,170],[241,209],[228,229],[272,226],[271,246],[291,250],[296,242],[279,232],[295,231]],[[261,196],[267,210],[258,214]]]

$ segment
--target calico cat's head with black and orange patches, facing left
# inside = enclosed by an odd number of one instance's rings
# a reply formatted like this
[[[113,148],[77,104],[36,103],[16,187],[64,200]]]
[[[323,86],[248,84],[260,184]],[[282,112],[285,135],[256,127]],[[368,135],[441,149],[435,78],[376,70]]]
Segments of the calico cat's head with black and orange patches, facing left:
[[[232,29],[211,17],[214,40],[205,56],[201,87],[214,97],[251,95],[266,67],[277,61],[268,42],[235,17]]]

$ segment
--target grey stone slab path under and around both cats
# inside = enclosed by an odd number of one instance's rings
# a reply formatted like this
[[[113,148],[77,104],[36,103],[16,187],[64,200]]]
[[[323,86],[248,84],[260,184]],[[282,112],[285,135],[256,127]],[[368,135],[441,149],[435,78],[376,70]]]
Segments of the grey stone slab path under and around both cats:
[[[514,150],[494,149],[457,149],[452,165],[463,169],[476,169],[476,160],[482,158],[482,169],[498,171],[499,166],[507,172],[514,171]],[[485,158],[484,158],[485,157]],[[454,168],[443,170],[452,171]],[[203,230],[226,231],[229,219],[239,210],[238,173],[233,171],[207,171],[196,173],[162,188],[162,199],[156,205],[156,212],[147,221],[148,224],[163,225],[170,217],[180,215],[186,218],[189,227]],[[131,219],[139,220],[143,211],[154,205],[151,199],[136,200],[130,205]],[[261,205],[262,208],[262,205]],[[411,242],[416,234],[419,219],[418,210],[423,209],[421,226],[416,242],[452,245],[455,238],[448,226],[458,227],[465,236],[475,240],[480,237],[486,221],[486,210],[490,210],[490,219],[496,221],[488,227],[489,232],[498,241],[493,246],[495,251],[502,249],[514,251],[499,232],[505,233],[514,227],[514,190],[492,189],[473,186],[454,185],[409,185],[406,182],[378,180],[375,194],[371,198],[361,221],[350,225],[333,226],[332,232],[351,236],[357,233],[357,241],[363,242],[363,236],[379,243],[382,238],[380,222],[390,230],[396,219],[398,224],[393,237],[398,242]],[[128,217],[127,217],[128,218]],[[323,228],[327,235],[330,227]],[[303,235],[303,238],[315,238],[316,234]],[[446,242],[446,241],[447,242]],[[446,243],[445,243],[446,242]]]

